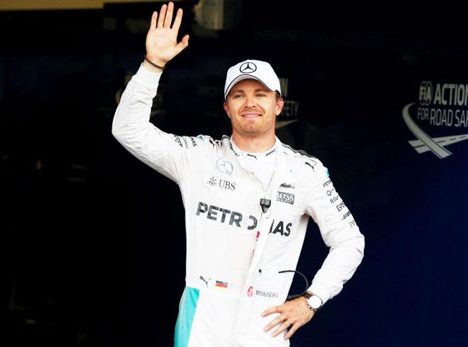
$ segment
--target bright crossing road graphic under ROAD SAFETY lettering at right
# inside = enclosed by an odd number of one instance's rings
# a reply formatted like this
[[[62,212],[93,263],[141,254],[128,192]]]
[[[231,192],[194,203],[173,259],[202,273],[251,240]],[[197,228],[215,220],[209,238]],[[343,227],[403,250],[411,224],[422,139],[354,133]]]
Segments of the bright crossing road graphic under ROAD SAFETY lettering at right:
[[[451,151],[447,150],[444,146],[451,145],[452,143],[457,143],[460,141],[468,140],[468,134],[458,135],[458,136],[443,136],[443,137],[430,137],[427,135],[423,129],[418,127],[414,120],[411,119],[409,114],[409,108],[413,106],[414,103],[408,104],[403,108],[403,120],[406,123],[408,129],[416,136],[417,140],[408,141],[408,143],[413,146],[413,148],[419,154],[432,151],[434,155],[437,155],[440,159],[444,159],[451,155]]]

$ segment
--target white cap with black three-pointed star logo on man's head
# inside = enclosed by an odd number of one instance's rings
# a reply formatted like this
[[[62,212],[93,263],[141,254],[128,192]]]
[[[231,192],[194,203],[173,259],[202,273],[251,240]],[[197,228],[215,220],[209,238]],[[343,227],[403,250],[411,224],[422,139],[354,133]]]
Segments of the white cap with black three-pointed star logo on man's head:
[[[259,80],[269,90],[277,90],[281,96],[279,79],[275,71],[273,71],[272,66],[260,60],[247,59],[229,68],[226,75],[226,84],[224,85],[224,99],[226,100],[229,91],[235,83],[249,78]]]

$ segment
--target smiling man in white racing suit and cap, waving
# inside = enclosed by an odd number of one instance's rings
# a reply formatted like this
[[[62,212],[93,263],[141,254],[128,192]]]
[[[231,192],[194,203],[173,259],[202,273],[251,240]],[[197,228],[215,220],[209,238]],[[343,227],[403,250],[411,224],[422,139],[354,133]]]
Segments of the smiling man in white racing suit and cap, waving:
[[[122,94],[112,134],[180,187],[187,227],[186,288],[175,346],[289,346],[289,338],[337,295],[363,259],[364,236],[315,157],[275,136],[279,80],[270,64],[247,60],[226,76],[224,109],[233,134],[167,134],[149,122],[182,10],[152,15],[145,61]],[[330,248],[307,295],[286,301],[309,216]]]

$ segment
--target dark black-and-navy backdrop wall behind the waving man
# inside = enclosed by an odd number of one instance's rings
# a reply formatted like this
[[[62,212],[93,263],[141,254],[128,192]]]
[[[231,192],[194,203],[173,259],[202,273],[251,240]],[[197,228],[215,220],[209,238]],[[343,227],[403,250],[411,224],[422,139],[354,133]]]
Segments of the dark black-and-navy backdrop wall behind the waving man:
[[[444,159],[418,154],[402,118],[416,103],[411,116],[430,136],[468,134],[468,120],[417,118],[421,107],[468,111],[423,106],[419,94],[423,81],[468,84],[462,6],[246,0],[236,25],[212,31],[194,22],[195,3],[178,3],[189,48],[168,64],[152,122],[229,134],[226,69],[267,60],[297,107],[280,116],[295,122],[279,138],[326,164],[366,237],[355,276],[293,346],[465,346],[468,142]],[[171,344],[184,288],[180,193],[110,134],[159,6],[0,13],[4,346]],[[326,253],[312,223],[298,269],[312,279]]]

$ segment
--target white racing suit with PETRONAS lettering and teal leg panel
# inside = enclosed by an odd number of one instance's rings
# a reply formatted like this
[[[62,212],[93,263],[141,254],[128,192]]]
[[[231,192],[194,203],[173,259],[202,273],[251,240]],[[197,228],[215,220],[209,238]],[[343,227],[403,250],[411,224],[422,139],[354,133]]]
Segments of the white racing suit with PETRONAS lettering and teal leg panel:
[[[268,190],[228,136],[166,134],[149,122],[161,73],[142,66],[122,94],[112,134],[139,160],[180,187],[187,227],[186,288],[175,328],[177,347],[289,346],[263,327],[283,304],[309,216],[330,248],[309,291],[325,303],[363,258],[364,236],[315,157],[276,139]],[[271,206],[263,213],[260,201]]]

